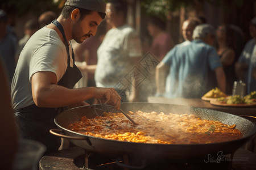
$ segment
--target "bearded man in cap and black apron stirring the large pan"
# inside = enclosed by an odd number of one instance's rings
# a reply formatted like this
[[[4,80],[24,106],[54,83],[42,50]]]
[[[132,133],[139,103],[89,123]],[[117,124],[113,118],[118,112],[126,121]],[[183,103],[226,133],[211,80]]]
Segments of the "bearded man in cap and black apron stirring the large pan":
[[[11,98],[23,138],[34,139],[56,151],[60,139],[49,133],[53,118],[68,106],[86,105],[90,98],[119,109],[121,97],[113,88],[73,89],[81,78],[70,40],[78,43],[94,36],[105,18],[104,0],[68,0],[59,18],[37,31],[19,56]]]

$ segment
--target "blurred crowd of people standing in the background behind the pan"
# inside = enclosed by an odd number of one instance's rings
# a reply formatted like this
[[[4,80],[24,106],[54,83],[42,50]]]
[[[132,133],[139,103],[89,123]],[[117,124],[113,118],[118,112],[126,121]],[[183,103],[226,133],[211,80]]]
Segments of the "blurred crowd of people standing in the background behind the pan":
[[[148,37],[143,37],[127,24],[127,4],[108,2],[106,19],[96,35],[81,44],[72,41],[76,65],[83,75],[76,88],[113,87],[122,102],[147,102],[148,96],[200,98],[214,87],[231,95],[233,83],[238,80],[246,83],[247,94],[256,91],[256,17],[251,19],[248,28],[251,40],[247,42],[237,25],[224,23],[214,28],[205,19],[189,17],[181,28],[184,41],[175,44],[166,20],[148,16]],[[26,42],[57,16],[46,11],[38,19],[28,20],[24,36],[18,39],[8,13],[0,9],[1,91],[10,91],[16,63]],[[148,55],[150,76],[144,74],[141,64]],[[1,109],[11,103],[8,93],[5,96],[7,104],[1,102]],[[86,102],[96,103],[94,99]]]

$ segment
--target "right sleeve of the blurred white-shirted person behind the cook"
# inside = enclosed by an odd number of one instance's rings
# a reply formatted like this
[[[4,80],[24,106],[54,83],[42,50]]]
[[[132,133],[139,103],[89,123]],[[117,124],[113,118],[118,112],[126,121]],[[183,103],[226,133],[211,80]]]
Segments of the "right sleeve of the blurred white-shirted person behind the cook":
[[[130,31],[123,41],[123,49],[129,57],[142,56],[141,40],[135,31]]]

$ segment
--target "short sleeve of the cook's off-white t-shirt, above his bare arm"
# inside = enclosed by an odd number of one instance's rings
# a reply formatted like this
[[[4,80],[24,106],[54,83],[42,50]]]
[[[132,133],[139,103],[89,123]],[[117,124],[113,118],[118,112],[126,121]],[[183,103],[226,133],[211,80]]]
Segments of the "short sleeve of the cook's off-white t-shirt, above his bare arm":
[[[30,61],[30,82],[32,75],[39,71],[51,71],[56,74],[57,80],[61,73],[61,66],[63,64],[63,52],[56,44],[46,43],[32,55]],[[62,71],[63,72],[63,71]]]

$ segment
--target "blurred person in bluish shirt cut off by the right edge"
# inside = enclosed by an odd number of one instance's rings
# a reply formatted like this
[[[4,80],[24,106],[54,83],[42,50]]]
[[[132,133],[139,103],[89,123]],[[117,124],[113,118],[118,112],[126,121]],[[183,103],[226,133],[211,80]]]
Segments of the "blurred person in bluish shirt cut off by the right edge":
[[[256,91],[256,17],[251,20],[249,31],[253,39],[245,44],[235,65],[238,79],[244,80],[247,84],[247,94]]]

